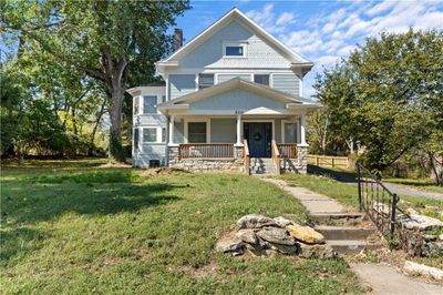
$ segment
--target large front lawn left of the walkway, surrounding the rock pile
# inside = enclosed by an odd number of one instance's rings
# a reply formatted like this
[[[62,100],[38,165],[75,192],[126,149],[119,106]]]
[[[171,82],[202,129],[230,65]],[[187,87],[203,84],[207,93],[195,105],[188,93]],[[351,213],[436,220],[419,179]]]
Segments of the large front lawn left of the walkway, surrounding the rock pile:
[[[95,166],[3,169],[3,293],[361,292],[342,260],[214,252],[245,214],[306,221],[303,207],[269,183],[235,174],[141,177]]]

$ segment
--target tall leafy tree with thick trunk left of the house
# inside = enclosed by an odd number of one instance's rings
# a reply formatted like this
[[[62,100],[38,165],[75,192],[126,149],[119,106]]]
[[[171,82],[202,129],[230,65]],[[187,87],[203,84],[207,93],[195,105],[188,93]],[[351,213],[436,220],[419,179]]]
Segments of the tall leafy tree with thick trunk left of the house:
[[[22,44],[50,53],[103,83],[110,100],[110,151],[124,161],[121,115],[126,84],[153,79],[172,49],[167,29],[188,1],[11,1],[2,22]],[[24,45],[23,45],[24,47]]]

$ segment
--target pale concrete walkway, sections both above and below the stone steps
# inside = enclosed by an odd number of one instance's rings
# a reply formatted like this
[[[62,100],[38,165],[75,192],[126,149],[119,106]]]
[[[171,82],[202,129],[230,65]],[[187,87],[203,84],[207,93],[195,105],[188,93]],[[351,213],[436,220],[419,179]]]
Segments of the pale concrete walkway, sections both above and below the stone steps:
[[[336,200],[326,195],[315,193],[308,189],[289,186],[285,181],[275,179],[262,179],[281,187],[298,199],[311,215],[322,213],[343,213],[344,207]],[[413,281],[395,268],[382,264],[351,264],[353,272],[372,288],[371,294],[443,294],[439,285],[424,284]]]

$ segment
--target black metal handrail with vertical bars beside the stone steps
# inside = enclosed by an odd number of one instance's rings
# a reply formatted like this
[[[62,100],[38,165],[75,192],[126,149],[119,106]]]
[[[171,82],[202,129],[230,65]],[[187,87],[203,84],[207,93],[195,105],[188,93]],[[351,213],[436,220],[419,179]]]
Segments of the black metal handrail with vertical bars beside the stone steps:
[[[398,207],[399,196],[388,190],[368,169],[360,163],[358,172],[358,190],[360,211],[364,211],[391,245],[395,242],[395,225],[399,213],[408,216]]]

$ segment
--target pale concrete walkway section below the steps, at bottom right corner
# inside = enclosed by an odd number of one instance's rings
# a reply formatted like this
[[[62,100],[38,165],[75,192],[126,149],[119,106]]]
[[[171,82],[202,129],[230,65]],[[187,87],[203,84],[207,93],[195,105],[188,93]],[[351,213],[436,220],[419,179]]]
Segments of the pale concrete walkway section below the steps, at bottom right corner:
[[[351,264],[351,268],[371,286],[371,294],[443,294],[443,287],[412,281],[388,265],[358,263]]]

